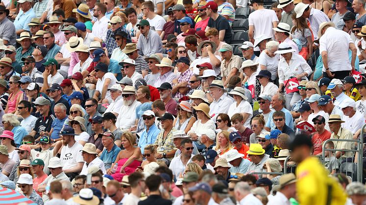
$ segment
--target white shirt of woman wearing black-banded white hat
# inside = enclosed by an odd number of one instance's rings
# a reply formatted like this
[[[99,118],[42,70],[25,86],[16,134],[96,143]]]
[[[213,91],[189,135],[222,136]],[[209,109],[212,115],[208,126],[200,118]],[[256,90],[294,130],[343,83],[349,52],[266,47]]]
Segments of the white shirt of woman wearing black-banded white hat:
[[[313,70],[310,68],[309,64],[306,63],[305,59],[299,55],[292,52],[292,57],[288,65],[285,58],[281,58],[278,62],[278,82],[284,84],[285,80],[288,80],[291,76],[296,77],[296,75],[303,72],[308,73],[308,76],[312,74]],[[304,77],[304,79],[307,79]]]

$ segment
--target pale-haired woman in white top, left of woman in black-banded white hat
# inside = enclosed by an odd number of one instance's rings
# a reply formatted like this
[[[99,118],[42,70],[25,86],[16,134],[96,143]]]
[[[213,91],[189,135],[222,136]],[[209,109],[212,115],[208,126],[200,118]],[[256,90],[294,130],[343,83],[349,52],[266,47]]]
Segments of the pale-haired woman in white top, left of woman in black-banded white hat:
[[[280,59],[280,55],[276,54],[275,52],[278,49],[279,43],[276,41],[269,41],[265,45],[265,50],[261,52],[258,57],[258,73],[261,70],[268,70],[271,72],[272,76],[271,79],[274,81],[277,79],[277,67],[278,67],[278,60]]]

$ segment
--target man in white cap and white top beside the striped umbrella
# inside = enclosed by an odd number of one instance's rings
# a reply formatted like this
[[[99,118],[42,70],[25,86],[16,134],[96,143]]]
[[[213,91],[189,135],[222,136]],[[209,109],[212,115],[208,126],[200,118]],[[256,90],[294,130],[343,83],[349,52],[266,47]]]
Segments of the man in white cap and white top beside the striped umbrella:
[[[50,159],[50,163],[48,167],[51,170],[51,174],[46,178],[44,182],[39,184],[38,192],[44,192],[42,194],[42,199],[44,202],[49,201],[48,195],[45,193],[46,186],[50,186],[51,182],[59,181],[59,180],[66,180],[70,181],[69,178],[66,176],[65,172],[62,170],[62,161],[57,157],[53,157]]]

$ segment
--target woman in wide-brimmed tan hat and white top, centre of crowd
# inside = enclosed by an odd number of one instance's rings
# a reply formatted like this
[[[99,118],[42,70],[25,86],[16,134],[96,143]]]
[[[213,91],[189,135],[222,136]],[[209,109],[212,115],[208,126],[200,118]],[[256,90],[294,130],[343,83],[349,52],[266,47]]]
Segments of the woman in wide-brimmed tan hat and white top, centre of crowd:
[[[187,135],[191,137],[197,149],[202,150],[205,148],[205,145],[201,143],[196,133],[203,134],[206,129],[215,131],[216,126],[209,116],[209,106],[206,103],[193,106],[193,109],[196,110],[198,120],[193,123],[193,126],[188,131]]]

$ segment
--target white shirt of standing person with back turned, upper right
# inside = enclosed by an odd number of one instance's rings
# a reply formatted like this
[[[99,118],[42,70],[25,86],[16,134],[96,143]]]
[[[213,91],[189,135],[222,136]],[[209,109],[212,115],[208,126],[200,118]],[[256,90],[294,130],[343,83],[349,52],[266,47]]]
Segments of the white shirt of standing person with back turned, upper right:
[[[313,9],[312,9],[313,10]],[[353,41],[344,31],[329,27],[319,40],[319,53],[326,51],[328,54],[328,68],[330,71],[351,70],[348,50]],[[325,68],[323,66],[323,72]]]

